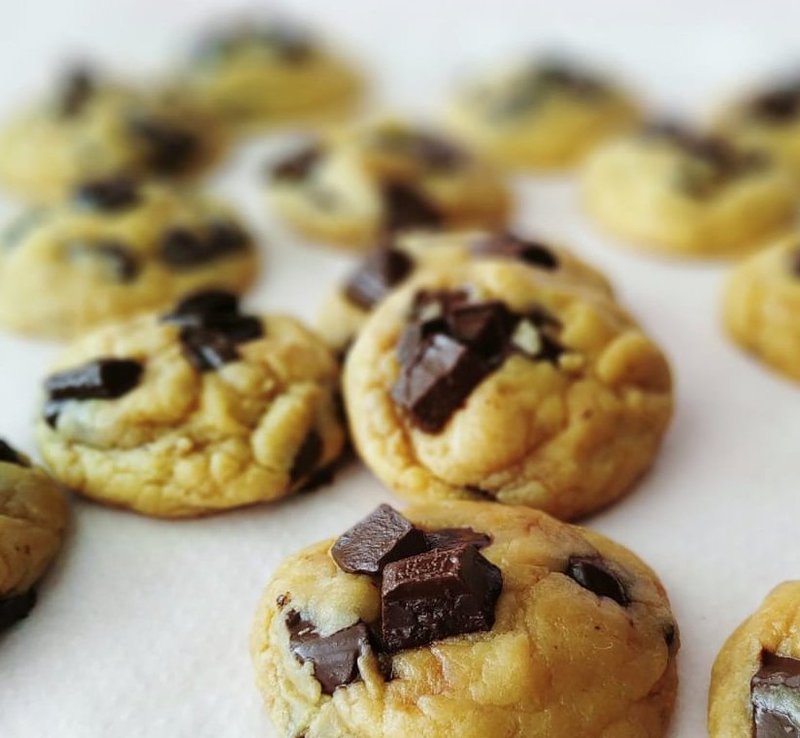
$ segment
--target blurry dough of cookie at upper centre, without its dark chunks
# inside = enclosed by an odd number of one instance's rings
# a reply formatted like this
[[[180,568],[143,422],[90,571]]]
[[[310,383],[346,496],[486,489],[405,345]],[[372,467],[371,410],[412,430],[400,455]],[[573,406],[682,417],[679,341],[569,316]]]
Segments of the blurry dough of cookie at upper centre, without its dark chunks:
[[[443,228],[505,225],[511,195],[500,175],[467,152],[451,168],[427,165],[406,147],[427,133],[392,120],[333,133],[320,144],[319,160],[308,176],[298,181],[272,178],[272,205],[305,236],[361,250],[374,246],[384,229],[381,192],[389,181],[423,197],[439,212]]]

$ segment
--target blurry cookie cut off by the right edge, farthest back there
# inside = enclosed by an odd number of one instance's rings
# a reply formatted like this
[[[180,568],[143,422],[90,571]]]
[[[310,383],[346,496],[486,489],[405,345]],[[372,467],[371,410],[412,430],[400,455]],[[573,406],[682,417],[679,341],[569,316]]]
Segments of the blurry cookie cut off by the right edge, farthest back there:
[[[720,111],[715,125],[742,148],[769,154],[800,175],[800,77],[732,102]]]

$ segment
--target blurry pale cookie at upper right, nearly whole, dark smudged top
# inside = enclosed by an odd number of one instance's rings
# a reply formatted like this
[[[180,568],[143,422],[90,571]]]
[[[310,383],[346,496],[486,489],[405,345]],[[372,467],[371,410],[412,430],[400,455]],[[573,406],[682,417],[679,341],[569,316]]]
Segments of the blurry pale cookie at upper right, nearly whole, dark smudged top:
[[[795,191],[766,157],[678,126],[610,142],[582,174],[590,215],[641,249],[730,257],[788,229]]]

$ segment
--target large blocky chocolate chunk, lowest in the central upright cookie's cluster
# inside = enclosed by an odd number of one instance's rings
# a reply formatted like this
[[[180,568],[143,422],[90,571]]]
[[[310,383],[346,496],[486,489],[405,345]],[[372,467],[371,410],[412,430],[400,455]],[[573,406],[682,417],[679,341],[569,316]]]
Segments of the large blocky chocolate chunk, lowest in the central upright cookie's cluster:
[[[467,346],[437,334],[425,339],[413,363],[400,372],[392,398],[422,430],[436,433],[490,371]]]

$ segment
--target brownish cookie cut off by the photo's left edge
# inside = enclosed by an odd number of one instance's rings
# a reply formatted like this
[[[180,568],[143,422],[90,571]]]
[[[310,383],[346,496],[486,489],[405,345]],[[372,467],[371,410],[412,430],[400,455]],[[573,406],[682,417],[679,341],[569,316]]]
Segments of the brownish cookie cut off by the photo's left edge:
[[[0,439],[0,633],[36,603],[36,583],[61,548],[68,512],[61,488]]]

